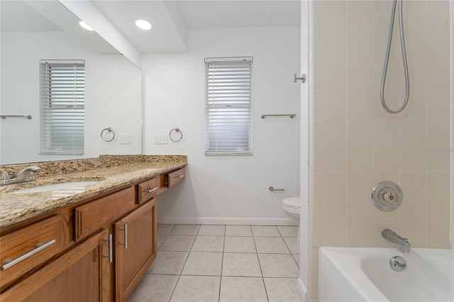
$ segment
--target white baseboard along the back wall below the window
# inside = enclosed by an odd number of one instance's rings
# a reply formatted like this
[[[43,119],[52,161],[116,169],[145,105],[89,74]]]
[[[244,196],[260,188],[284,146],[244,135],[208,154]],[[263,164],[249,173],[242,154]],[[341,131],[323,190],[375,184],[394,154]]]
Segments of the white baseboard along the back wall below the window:
[[[184,225],[297,225],[292,218],[158,217],[157,223]]]

